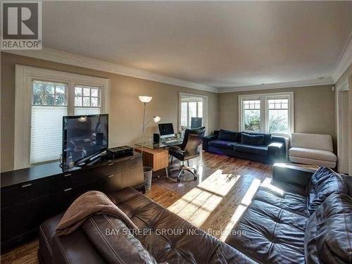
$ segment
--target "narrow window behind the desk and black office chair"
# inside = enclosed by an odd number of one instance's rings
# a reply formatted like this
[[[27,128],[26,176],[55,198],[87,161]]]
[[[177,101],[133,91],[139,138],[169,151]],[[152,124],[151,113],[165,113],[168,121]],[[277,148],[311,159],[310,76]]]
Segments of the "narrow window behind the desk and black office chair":
[[[191,128],[192,118],[201,118],[198,120],[200,124],[206,124],[204,120],[206,100],[206,96],[180,93],[180,129]],[[199,123],[194,123],[194,125],[199,125]]]

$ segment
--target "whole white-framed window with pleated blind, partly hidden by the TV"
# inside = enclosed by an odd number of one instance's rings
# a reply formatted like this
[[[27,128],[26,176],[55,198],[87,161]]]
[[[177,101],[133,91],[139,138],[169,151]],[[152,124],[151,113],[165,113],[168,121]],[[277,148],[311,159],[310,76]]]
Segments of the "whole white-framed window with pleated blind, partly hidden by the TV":
[[[110,81],[16,65],[14,168],[57,161],[64,115],[108,113]]]

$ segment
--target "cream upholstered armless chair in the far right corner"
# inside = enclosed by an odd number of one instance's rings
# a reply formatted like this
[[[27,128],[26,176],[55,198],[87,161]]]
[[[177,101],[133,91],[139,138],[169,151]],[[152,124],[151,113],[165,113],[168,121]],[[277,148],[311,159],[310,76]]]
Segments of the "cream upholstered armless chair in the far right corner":
[[[294,163],[335,168],[337,156],[332,151],[332,137],[329,134],[293,133],[289,160]]]

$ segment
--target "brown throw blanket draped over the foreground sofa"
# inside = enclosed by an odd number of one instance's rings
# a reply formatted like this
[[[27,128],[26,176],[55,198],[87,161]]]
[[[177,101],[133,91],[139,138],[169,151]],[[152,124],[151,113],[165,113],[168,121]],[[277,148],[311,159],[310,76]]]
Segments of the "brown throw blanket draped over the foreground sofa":
[[[125,213],[115,206],[115,204],[108,199],[108,196],[101,191],[87,191],[78,197],[66,210],[63,218],[56,227],[56,234],[63,236],[77,230],[80,225],[84,223],[87,218],[94,214],[107,214],[113,215],[115,218],[125,222],[130,229],[138,230],[132,220],[125,215]]]

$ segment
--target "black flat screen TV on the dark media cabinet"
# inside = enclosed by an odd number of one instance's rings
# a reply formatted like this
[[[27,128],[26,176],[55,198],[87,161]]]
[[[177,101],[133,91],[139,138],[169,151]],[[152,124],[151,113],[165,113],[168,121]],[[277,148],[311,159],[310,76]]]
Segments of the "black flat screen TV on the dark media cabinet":
[[[63,117],[63,171],[88,161],[106,149],[108,114]]]

